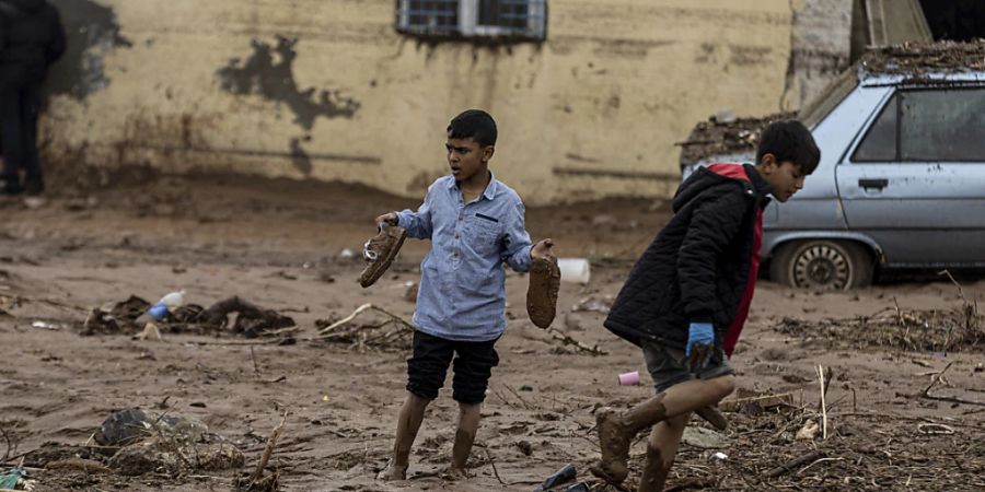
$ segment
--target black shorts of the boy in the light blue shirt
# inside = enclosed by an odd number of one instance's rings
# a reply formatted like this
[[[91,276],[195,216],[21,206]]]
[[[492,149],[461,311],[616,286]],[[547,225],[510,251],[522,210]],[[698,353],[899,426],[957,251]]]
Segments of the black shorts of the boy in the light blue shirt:
[[[407,390],[429,400],[438,398],[452,363],[452,398],[465,405],[486,399],[493,367],[499,364],[496,341],[465,342],[448,340],[420,330],[414,331],[414,355],[407,360]]]

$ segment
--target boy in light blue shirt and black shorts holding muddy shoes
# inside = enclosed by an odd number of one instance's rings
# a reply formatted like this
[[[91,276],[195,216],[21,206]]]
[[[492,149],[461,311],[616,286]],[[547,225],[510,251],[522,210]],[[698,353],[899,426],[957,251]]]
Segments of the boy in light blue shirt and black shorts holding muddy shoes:
[[[431,239],[431,250],[420,263],[407,399],[397,419],[393,458],[379,476],[382,480],[407,478],[410,447],[425,409],[438,397],[450,364],[459,423],[449,476],[466,476],[482,402],[491,370],[499,363],[494,345],[507,327],[502,263],[523,272],[533,258],[553,256],[551,239],[531,244],[523,202],[489,171],[496,133],[496,122],[486,112],[470,109],[456,116],[444,144],[451,175],[428,188],[417,212],[376,218],[378,224]]]

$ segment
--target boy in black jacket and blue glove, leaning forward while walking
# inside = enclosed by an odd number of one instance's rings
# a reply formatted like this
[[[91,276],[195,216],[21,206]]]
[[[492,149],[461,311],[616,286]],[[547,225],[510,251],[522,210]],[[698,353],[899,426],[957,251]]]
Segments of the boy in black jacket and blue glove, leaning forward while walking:
[[[712,164],[681,184],[674,216],[633,267],[604,323],[642,349],[657,396],[624,412],[598,411],[594,475],[622,483],[629,443],[653,425],[639,491],[663,490],[692,412],[734,389],[727,358],[752,302],[767,196],[789,200],[820,160],[802,124],[777,121],[763,131],[755,165]]]

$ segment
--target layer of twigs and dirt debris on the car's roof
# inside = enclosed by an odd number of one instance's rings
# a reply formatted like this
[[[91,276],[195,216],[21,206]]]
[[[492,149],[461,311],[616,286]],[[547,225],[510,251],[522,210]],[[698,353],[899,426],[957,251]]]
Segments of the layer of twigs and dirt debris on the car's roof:
[[[985,39],[904,43],[867,51],[858,67],[869,73],[914,74],[985,70]]]

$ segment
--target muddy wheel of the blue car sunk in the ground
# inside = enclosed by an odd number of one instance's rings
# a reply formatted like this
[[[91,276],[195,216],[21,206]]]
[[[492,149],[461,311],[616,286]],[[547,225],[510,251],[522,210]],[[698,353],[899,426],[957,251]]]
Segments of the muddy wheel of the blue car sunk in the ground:
[[[776,282],[799,289],[847,291],[872,283],[872,256],[847,241],[811,239],[787,243],[769,265]]]

